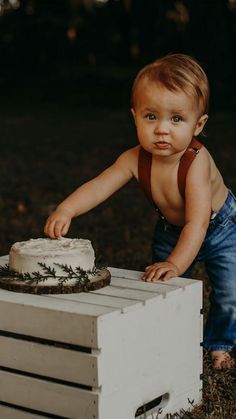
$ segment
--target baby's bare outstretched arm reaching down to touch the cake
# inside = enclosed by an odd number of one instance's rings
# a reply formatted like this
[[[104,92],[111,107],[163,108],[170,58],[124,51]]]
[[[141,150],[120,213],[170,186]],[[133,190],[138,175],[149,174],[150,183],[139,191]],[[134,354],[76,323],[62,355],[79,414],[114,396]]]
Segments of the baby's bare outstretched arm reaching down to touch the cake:
[[[112,166],[69,195],[47,219],[45,234],[54,239],[64,236],[73,217],[96,207],[132,178],[135,164],[136,147],[121,154]]]

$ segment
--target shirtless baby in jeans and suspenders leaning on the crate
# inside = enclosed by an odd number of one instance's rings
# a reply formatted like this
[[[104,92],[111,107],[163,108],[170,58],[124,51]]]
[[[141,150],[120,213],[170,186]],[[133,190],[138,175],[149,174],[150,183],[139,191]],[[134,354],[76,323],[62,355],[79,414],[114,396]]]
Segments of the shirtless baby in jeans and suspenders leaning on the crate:
[[[144,67],[132,89],[139,145],[66,198],[45,234],[59,238],[71,219],[135,177],[159,213],[145,281],[189,276],[204,261],[212,293],[204,346],[215,368],[231,367],[236,341],[236,200],[211,155],[196,139],[208,119],[209,85],[198,62],[167,55]]]

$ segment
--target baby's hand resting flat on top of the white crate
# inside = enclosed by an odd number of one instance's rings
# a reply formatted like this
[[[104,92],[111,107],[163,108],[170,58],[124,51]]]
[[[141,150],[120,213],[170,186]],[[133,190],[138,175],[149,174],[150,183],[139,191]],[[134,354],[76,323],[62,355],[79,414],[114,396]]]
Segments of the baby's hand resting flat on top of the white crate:
[[[167,281],[178,275],[179,270],[177,266],[166,261],[147,266],[143,275],[143,280],[147,282]]]

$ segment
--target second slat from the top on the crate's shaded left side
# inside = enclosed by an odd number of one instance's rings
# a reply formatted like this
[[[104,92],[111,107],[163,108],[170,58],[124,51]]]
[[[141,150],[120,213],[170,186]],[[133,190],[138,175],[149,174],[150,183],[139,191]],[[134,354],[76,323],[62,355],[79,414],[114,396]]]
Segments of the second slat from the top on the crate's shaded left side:
[[[0,336],[2,367],[98,387],[98,357],[12,337]]]

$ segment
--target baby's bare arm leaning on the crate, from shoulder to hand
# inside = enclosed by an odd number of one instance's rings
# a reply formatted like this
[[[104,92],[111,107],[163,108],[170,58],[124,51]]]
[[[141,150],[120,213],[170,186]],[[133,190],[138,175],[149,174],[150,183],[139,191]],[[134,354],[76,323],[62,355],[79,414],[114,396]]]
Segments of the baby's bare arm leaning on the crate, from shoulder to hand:
[[[186,179],[185,225],[172,253],[164,262],[146,268],[146,281],[168,280],[181,276],[197,256],[205,238],[211,214],[210,161],[206,149],[202,149]]]

